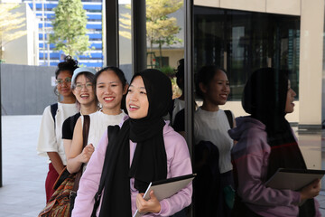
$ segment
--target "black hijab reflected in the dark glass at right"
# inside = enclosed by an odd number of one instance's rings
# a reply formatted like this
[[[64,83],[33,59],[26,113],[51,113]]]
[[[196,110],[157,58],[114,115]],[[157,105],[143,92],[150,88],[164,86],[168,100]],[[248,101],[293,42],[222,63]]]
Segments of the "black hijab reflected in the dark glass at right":
[[[287,71],[272,68],[253,72],[244,90],[243,108],[266,126],[267,142],[271,146],[267,179],[278,168],[306,169],[292,128],[285,119],[287,92]],[[309,200],[300,207],[299,216],[313,216],[314,212],[313,200]]]

